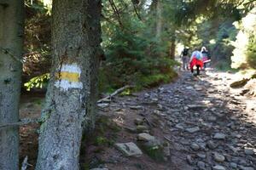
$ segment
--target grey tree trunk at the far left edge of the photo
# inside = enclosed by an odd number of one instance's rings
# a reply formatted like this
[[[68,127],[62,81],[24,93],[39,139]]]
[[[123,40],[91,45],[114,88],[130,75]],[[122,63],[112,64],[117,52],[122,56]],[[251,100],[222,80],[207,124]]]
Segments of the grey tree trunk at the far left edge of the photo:
[[[0,1],[0,124],[19,121],[23,0]],[[19,127],[0,129],[0,169],[19,169]]]

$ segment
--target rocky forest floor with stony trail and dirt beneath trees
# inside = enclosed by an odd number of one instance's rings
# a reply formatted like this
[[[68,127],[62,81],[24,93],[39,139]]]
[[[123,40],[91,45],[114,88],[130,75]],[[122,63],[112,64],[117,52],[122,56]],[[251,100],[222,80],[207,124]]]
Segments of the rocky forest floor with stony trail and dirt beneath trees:
[[[256,170],[256,100],[230,88],[235,79],[227,72],[194,77],[183,71],[176,82],[99,105],[96,132],[83,139],[81,169]],[[23,96],[21,118],[37,118],[43,101]],[[37,128],[20,127],[20,161],[28,156],[33,167]],[[117,149],[129,142],[142,153]]]

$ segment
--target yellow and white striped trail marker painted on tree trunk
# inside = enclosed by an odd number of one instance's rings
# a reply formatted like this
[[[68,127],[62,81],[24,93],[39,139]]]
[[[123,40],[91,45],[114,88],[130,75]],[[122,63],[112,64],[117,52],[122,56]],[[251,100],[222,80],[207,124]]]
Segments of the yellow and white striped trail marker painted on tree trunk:
[[[79,82],[81,75],[81,69],[76,63],[69,65],[62,65],[61,71],[56,74],[57,81],[55,82],[56,88],[61,88],[63,91],[67,91],[72,88],[83,88],[83,83]]]

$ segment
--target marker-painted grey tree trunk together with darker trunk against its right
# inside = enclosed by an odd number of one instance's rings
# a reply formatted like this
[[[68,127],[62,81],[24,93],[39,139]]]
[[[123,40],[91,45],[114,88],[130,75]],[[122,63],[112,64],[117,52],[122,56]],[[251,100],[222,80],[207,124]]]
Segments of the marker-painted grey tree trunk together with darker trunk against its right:
[[[42,111],[37,170],[79,169],[84,123],[94,125],[101,7],[100,0],[53,1],[54,61]]]

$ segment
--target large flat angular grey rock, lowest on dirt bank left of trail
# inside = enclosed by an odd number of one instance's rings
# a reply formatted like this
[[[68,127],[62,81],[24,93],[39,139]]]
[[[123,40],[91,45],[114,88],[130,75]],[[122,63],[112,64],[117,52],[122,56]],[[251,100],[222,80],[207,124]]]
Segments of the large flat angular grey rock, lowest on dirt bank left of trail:
[[[118,150],[123,152],[125,156],[142,156],[143,152],[140,150],[136,144],[129,142],[129,143],[117,143],[115,144]]]

